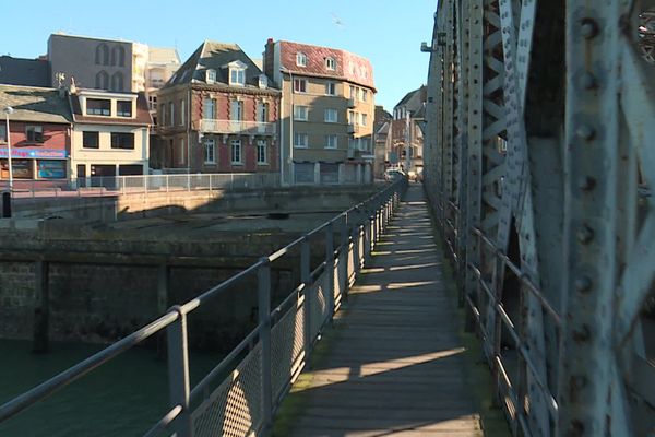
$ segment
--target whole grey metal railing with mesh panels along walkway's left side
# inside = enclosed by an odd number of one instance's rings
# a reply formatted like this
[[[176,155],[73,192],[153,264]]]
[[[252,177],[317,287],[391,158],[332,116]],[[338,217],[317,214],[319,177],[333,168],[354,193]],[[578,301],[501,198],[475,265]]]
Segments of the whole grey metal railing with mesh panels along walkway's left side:
[[[150,336],[165,332],[170,406],[145,436],[164,432],[167,435],[175,432],[178,437],[269,434],[282,399],[306,365],[320,333],[347,297],[349,286],[390,222],[406,187],[405,179],[394,182],[194,299],[174,306],[157,320],[7,402],[0,406],[0,423]],[[335,241],[337,235],[338,241]],[[325,256],[311,270],[310,245],[317,238],[324,240]],[[301,282],[271,310],[271,264],[298,249]],[[252,275],[258,279],[258,326],[191,387],[188,316]],[[217,381],[227,371],[229,375]]]

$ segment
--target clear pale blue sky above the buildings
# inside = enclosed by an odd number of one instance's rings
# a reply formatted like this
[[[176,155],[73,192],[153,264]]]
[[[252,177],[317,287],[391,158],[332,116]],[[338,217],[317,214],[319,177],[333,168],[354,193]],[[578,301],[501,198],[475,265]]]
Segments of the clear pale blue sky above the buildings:
[[[429,55],[420,43],[430,40],[436,7],[437,0],[7,1],[0,55],[35,58],[58,31],[177,47],[182,61],[204,39],[237,43],[261,58],[272,37],[369,58],[376,103],[391,110],[426,82]]]

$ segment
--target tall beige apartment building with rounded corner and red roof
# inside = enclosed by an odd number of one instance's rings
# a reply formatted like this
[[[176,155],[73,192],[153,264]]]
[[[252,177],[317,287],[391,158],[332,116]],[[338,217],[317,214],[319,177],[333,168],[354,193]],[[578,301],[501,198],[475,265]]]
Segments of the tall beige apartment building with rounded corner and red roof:
[[[269,39],[263,64],[282,90],[283,184],[372,180],[371,63],[341,49]]]

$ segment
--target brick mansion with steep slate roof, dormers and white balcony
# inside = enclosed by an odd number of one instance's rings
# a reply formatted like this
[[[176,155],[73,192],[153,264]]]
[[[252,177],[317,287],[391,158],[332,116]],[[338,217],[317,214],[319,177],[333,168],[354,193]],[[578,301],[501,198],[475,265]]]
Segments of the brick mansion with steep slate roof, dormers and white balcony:
[[[279,96],[238,45],[204,42],[159,90],[156,165],[277,173]]]

